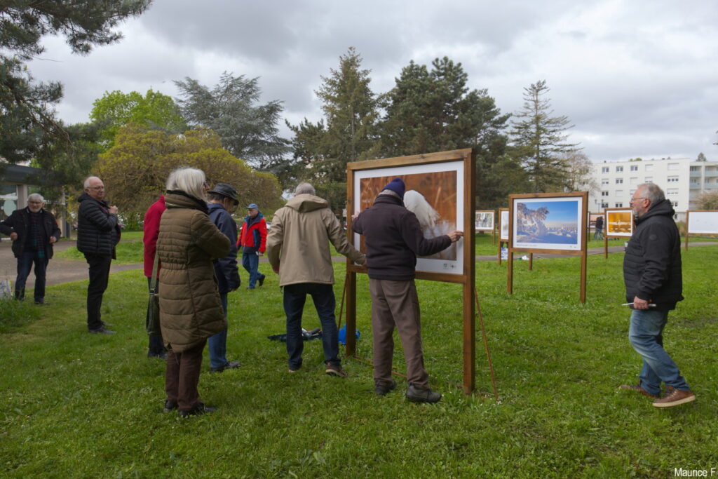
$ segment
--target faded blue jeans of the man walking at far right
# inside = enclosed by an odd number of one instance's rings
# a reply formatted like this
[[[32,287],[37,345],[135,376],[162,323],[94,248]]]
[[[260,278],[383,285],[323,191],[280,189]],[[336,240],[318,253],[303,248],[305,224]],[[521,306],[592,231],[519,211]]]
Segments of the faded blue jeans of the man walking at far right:
[[[676,363],[663,349],[663,327],[668,322],[668,311],[633,310],[630,315],[628,340],[636,353],[643,356],[640,385],[649,393],[661,393],[661,381],[666,386],[690,391]]]

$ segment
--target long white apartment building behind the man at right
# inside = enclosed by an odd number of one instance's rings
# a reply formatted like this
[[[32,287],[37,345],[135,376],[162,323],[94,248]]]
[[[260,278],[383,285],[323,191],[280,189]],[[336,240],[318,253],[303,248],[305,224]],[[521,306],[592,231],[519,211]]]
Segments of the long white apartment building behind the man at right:
[[[594,163],[593,167],[600,188],[589,192],[588,209],[594,213],[604,208],[628,208],[630,197],[641,183],[660,186],[673,209],[680,213],[695,209],[695,199],[700,193],[718,190],[718,162],[661,158]]]

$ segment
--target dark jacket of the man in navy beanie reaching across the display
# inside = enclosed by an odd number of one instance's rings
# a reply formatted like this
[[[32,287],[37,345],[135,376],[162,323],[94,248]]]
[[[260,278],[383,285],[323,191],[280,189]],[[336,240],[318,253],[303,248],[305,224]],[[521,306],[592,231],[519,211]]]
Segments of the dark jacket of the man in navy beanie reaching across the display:
[[[369,277],[408,281],[416,276],[416,256],[430,256],[451,246],[449,236],[426,239],[416,215],[391,195],[379,195],[371,208],[352,222],[366,239]]]

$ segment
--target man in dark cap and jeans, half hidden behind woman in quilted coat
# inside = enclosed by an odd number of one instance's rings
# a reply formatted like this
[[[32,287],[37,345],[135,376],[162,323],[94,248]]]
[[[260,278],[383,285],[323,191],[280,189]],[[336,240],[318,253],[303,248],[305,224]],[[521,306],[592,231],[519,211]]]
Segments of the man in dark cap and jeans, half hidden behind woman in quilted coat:
[[[222,301],[222,307],[227,319],[227,294],[235,291],[240,285],[239,270],[237,268],[237,223],[232,219],[230,211],[237,207],[237,190],[232,185],[218,183],[208,192],[209,217],[215,226],[229,238],[229,254],[224,258],[215,260],[215,276],[217,287]],[[221,373],[225,369],[234,369],[239,361],[227,361],[227,328],[210,336],[208,339],[210,350],[210,371]]]

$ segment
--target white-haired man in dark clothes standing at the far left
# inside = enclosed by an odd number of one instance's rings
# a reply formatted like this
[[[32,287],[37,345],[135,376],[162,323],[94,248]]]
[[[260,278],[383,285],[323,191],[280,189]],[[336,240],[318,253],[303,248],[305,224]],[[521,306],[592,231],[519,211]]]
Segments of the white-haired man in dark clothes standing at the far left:
[[[52,245],[60,240],[55,216],[42,208],[45,198],[39,193],[27,197],[27,207],[14,210],[0,221],[0,232],[10,236],[12,252],[17,258],[15,299],[24,299],[25,282],[35,265],[35,304],[45,304],[45,271],[52,258]]]

